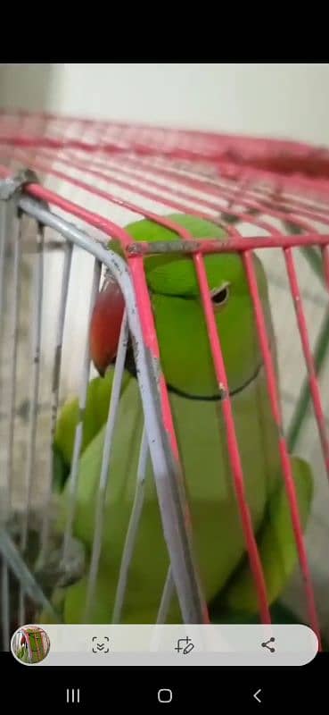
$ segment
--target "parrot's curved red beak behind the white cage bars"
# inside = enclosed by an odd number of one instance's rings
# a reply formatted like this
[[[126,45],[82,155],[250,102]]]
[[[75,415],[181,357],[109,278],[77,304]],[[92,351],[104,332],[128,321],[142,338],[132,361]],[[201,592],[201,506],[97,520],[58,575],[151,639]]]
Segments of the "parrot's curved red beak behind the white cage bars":
[[[116,357],[124,311],[119,285],[110,277],[95,301],[89,333],[90,357],[102,377]]]

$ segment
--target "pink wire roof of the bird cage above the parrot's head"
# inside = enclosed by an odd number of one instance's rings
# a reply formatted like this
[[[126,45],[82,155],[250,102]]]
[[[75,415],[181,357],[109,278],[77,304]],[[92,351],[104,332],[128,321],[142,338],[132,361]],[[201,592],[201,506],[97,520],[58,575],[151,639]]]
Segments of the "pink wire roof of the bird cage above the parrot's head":
[[[169,211],[190,211],[221,223],[232,239],[243,238],[232,225],[233,217],[255,227],[255,240],[258,228],[267,231],[268,239],[287,235],[274,231],[267,216],[292,223],[307,236],[318,236],[312,222],[329,224],[329,150],[306,143],[3,110],[1,164],[3,177],[5,169],[29,165],[42,177],[38,194],[29,185],[31,196],[86,221],[107,237],[115,236],[124,246],[130,241],[121,227],[99,212],[87,211],[83,203],[71,202],[68,189],[81,189],[86,201],[88,195],[97,196],[163,225],[163,215],[144,207],[145,199],[156,199]],[[143,188],[137,183],[141,172]],[[62,182],[60,196],[47,191],[51,177]],[[111,183],[118,191],[99,189],[97,181]],[[175,190],[170,190],[170,181],[177,182]],[[139,198],[135,204],[122,198],[129,189]],[[202,198],[195,191],[202,192]],[[193,199],[198,209],[188,205]],[[170,225],[183,238],[179,227]],[[310,239],[305,240],[309,245]]]

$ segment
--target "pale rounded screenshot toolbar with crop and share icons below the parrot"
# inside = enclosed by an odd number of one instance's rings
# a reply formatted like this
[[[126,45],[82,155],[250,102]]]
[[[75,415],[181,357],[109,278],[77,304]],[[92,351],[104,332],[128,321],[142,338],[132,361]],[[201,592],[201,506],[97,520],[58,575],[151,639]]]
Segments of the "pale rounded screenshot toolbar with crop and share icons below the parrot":
[[[317,635],[300,625],[37,626],[48,636],[49,648],[44,660],[33,663],[39,667],[302,666],[318,650]],[[14,657],[21,634],[27,643],[28,629],[12,636]]]

